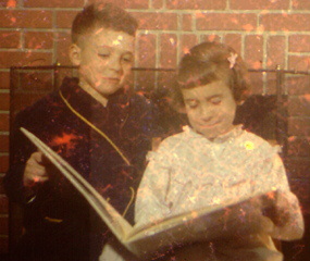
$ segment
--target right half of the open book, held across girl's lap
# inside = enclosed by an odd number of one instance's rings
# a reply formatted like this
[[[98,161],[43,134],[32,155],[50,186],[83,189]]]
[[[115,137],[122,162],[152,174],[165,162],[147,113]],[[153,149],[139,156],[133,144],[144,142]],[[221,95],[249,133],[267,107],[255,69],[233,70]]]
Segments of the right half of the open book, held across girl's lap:
[[[126,247],[137,256],[148,256],[182,244],[272,229],[272,221],[251,207],[250,200],[259,200],[263,196],[253,195],[251,199],[243,198],[226,206],[201,208],[152,224],[135,226],[128,234]]]

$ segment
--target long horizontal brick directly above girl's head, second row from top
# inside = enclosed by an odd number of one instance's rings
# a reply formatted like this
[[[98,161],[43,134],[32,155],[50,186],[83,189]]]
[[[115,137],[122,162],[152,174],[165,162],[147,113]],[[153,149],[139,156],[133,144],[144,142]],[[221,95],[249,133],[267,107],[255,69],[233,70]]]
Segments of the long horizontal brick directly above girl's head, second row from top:
[[[196,20],[198,30],[251,32],[257,28],[256,14],[197,13]]]

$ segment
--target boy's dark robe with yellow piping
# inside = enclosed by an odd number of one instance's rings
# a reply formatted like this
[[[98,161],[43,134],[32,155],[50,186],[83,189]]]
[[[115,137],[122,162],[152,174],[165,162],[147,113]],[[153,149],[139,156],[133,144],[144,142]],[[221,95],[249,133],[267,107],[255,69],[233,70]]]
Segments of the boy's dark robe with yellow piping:
[[[60,153],[131,223],[146,152],[151,149],[151,137],[162,133],[154,124],[159,122],[156,107],[142,96],[122,89],[104,108],[78,86],[77,78],[65,78],[60,91],[73,110],[55,91],[18,113],[11,132],[12,164],[4,185],[9,198],[24,207],[26,233],[16,250],[18,260],[97,260],[109,237],[103,222],[52,165],[50,179],[28,202],[23,173],[37,149],[20,127]],[[83,119],[103,132],[129,164]]]

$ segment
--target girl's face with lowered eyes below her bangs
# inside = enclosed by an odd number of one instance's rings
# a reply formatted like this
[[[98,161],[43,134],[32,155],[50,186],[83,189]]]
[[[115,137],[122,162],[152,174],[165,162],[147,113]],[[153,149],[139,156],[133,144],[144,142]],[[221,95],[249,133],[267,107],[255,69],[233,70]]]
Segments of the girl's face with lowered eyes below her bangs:
[[[182,89],[191,127],[212,140],[230,132],[237,108],[230,87],[222,80],[190,89]]]

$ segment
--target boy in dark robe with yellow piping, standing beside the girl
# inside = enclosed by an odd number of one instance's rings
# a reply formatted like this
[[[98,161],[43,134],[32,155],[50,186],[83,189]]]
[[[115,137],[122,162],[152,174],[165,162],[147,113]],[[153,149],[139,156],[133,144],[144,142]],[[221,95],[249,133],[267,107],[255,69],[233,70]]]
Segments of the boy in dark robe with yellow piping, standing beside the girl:
[[[10,199],[24,207],[25,234],[14,260],[97,260],[109,237],[20,127],[57,150],[133,222],[132,202],[153,129],[151,103],[124,88],[136,29],[136,20],[120,8],[86,7],[73,22],[69,51],[79,78],[65,78],[59,91],[17,115],[13,164],[4,181]]]

